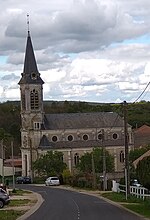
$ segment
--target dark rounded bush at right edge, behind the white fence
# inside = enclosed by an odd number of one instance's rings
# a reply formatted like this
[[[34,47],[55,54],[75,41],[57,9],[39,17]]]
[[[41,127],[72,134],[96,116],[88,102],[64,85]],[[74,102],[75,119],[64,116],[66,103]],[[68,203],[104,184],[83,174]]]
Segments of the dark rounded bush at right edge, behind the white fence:
[[[150,157],[145,157],[139,161],[136,168],[136,175],[140,183],[150,189]]]

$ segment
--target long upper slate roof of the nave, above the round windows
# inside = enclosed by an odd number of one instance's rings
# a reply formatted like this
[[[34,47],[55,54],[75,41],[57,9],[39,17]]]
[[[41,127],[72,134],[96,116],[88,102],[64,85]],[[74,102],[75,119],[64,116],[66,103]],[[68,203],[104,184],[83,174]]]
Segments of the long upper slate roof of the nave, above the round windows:
[[[123,126],[123,119],[114,112],[46,114],[44,120],[46,130]]]

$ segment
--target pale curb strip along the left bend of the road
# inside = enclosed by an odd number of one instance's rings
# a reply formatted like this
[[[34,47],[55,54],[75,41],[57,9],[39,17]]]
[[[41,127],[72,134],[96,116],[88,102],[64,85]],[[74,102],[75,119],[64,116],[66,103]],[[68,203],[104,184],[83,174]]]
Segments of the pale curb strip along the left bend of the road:
[[[33,194],[37,197],[37,202],[35,203],[35,205],[31,206],[30,210],[27,211],[24,215],[20,216],[19,218],[17,218],[17,220],[25,220],[27,219],[30,215],[32,215],[37,209],[39,209],[39,207],[42,205],[42,203],[44,202],[43,197],[39,194],[39,193],[35,193],[33,192]]]

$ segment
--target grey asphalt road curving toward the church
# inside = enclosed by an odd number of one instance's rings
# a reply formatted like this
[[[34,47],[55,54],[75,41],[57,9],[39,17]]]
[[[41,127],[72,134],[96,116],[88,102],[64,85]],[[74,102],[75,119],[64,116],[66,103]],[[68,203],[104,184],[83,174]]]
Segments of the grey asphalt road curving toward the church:
[[[101,198],[57,187],[21,185],[40,193],[44,202],[27,220],[142,220]]]

